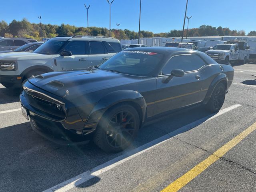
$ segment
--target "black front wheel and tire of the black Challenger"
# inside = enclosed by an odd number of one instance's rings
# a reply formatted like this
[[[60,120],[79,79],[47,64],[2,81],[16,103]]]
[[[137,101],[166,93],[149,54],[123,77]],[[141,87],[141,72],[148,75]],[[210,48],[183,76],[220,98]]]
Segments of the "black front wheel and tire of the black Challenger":
[[[140,118],[137,110],[131,105],[119,104],[102,116],[93,140],[105,152],[120,152],[132,143],[139,127]]]

